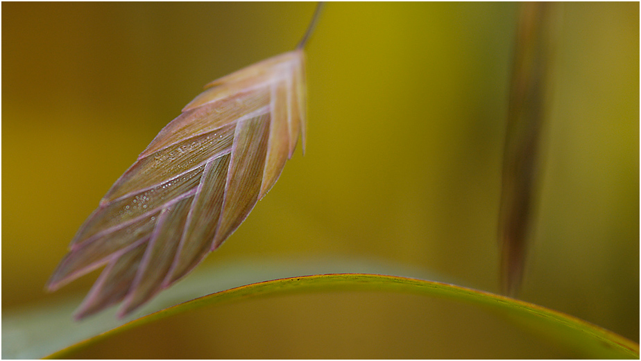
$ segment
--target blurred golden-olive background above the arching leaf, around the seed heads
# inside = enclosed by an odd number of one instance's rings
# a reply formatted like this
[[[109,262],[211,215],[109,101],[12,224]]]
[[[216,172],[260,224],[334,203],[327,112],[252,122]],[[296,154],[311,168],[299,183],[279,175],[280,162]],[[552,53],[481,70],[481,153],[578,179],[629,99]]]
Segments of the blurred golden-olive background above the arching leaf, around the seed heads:
[[[96,272],[54,294],[44,284],[110,185],[205,83],[293,49],[314,6],[3,3],[3,315],[89,290]],[[639,6],[561,8],[520,298],[638,342]],[[307,46],[305,157],[204,263],[367,260],[499,292],[517,14],[516,3],[328,3]],[[372,324],[386,325],[361,329]]]

